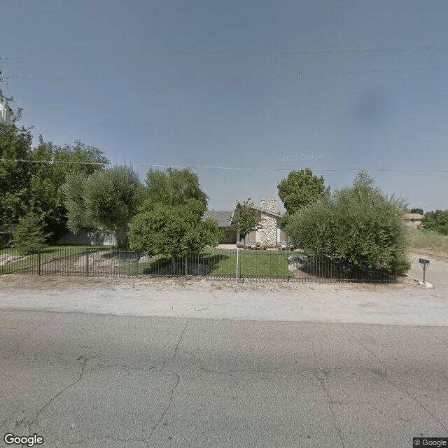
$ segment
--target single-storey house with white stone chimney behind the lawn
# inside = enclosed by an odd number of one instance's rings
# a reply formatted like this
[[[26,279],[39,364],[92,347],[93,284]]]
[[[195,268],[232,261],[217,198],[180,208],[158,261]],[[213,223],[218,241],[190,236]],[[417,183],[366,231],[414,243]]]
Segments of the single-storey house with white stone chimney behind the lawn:
[[[248,235],[239,235],[228,227],[232,223],[232,218],[237,214],[238,209],[245,204],[242,201],[237,201],[235,209],[232,211],[214,211],[207,210],[204,214],[204,220],[212,216],[218,220],[218,225],[225,229],[226,244],[245,243],[250,245],[260,244],[260,246],[276,246],[288,244],[288,235],[281,228],[280,218],[281,213],[277,210],[277,202],[274,199],[263,199],[260,202],[260,207],[249,205],[255,211],[256,216],[260,220],[260,227],[258,230],[249,233]]]

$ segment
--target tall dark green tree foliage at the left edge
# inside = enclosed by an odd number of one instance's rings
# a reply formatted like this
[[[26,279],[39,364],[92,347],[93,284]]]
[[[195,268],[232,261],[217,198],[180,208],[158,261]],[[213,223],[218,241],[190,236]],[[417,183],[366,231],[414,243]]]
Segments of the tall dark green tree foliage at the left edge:
[[[92,174],[108,160],[102,151],[76,141],[56,146],[39,136],[31,149],[31,127],[0,125],[0,220],[18,223],[22,216],[38,214],[45,235],[58,239],[66,231],[66,208],[62,185],[73,173]]]

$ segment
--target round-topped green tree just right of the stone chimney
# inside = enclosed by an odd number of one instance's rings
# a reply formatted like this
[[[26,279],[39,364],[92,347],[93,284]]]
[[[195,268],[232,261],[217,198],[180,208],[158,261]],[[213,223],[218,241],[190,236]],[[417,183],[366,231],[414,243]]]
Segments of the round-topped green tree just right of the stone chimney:
[[[323,176],[314,176],[309,168],[292,171],[282,179],[277,188],[288,215],[327,195],[330,187],[325,188],[324,182]]]

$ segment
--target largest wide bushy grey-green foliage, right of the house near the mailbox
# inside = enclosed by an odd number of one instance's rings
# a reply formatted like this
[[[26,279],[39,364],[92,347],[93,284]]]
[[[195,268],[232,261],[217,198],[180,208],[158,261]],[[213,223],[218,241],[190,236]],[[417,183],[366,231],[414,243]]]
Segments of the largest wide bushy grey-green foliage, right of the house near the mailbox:
[[[335,255],[360,267],[382,263],[405,272],[407,233],[400,201],[359,180],[290,216],[288,233],[316,254]]]

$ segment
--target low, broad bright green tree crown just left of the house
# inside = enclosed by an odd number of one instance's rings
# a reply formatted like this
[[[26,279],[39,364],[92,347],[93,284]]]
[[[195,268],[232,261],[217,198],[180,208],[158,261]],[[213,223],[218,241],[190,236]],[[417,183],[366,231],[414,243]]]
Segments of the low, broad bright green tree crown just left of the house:
[[[216,246],[218,221],[204,215],[204,204],[190,199],[182,205],[146,202],[130,223],[130,247],[149,255],[183,257]]]

